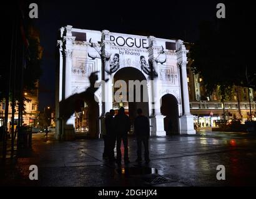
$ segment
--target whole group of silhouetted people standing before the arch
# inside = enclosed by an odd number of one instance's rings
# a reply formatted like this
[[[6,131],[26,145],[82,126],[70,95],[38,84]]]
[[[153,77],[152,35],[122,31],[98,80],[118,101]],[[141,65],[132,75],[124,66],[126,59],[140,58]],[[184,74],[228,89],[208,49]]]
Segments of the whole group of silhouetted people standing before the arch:
[[[136,162],[142,161],[142,143],[144,144],[145,162],[149,163],[149,119],[142,114],[142,109],[137,109],[137,118],[134,121],[134,133],[137,139],[137,159]],[[124,163],[128,164],[128,132],[130,131],[130,119],[125,114],[124,108],[121,107],[115,116],[115,111],[111,109],[102,118],[102,137],[104,139],[104,159],[109,159],[110,162],[121,164],[121,142],[124,145]],[[116,159],[114,149],[116,146]]]

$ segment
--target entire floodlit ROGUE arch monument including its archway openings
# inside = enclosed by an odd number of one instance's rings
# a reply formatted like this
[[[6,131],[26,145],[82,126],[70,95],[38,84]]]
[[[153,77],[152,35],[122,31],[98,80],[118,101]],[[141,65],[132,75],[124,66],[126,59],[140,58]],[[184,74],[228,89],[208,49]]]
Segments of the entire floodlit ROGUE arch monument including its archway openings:
[[[57,49],[57,138],[72,137],[80,125],[86,125],[89,134],[97,137],[101,131],[100,116],[121,106],[131,120],[135,110],[142,108],[150,118],[152,136],[195,133],[189,108],[187,50],[182,40],[82,30],[67,25],[60,29]],[[98,72],[97,83],[101,82],[94,93],[94,103],[85,99],[65,120],[62,113],[71,107],[61,104],[68,104],[73,96],[90,88],[89,76],[93,72]],[[130,81],[136,80],[143,87],[142,91],[135,88],[141,91],[139,99],[137,93],[133,96],[130,92],[135,86],[130,87]]]

